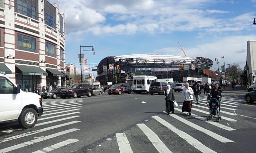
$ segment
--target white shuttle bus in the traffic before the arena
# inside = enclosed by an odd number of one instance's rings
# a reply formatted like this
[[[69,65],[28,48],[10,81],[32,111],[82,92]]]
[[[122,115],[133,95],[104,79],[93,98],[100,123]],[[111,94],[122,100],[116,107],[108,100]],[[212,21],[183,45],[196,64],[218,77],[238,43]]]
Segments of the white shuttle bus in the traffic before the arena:
[[[151,82],[157,82],[156,76],[133,76],[132,91],[134,93],[148,93]]]

